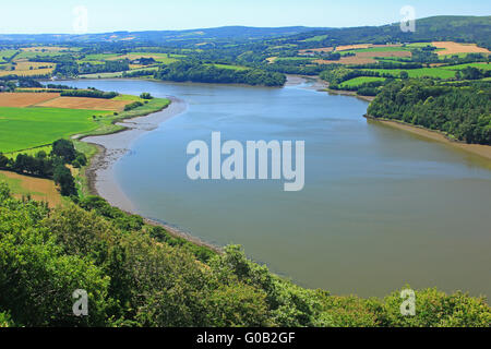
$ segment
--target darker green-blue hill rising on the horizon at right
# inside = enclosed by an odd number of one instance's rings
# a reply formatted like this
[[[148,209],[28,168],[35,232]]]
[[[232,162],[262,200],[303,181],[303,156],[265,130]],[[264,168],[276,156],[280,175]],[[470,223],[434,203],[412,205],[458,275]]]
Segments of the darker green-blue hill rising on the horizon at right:
[[[322,41],[304,41],[309,37],[325,35]],[[383,26],[362,26],[335,28],[330,31],[312,31],[300,33],[286,39],[302,47],[321,47],[333,44],[385,44],[391,41],[440,41],[456,40],[477,43],[491,48],[491,16],[441,15],[416,21],[415,33],[404,33],[400,24]]]

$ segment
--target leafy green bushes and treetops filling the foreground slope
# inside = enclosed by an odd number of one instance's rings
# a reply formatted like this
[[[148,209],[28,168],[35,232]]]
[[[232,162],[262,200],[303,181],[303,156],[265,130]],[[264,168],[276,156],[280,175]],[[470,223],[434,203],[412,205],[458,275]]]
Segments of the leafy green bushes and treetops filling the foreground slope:
[[[101,198],[81,206],[49,209],[0,183],[0,326],[491,324],[484,299],[416,291],[416,316],[406,317],[398,292],[367,300],[303,289],[238,246],[200,258]],[[88,293],[88,316],[72,314],[75,289]]]

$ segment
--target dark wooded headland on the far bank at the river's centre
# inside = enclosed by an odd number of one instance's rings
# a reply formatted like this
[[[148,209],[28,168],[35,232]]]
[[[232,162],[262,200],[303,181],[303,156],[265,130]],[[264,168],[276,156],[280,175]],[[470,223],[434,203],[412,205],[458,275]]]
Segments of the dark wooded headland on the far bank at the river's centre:
[[[176,82],[248,84],[283,86],[286,76],[259,69],[235,70],[217,68],[194,61],[179,61],[165,65],[155,73],[156,79]]]

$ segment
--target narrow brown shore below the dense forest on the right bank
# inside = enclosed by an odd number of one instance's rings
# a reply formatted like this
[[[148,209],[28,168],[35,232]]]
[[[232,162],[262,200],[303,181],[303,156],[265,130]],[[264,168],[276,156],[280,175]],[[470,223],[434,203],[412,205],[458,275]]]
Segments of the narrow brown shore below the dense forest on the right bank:
[[[456,141],[447,139],[441,132],[423,129],[420,127],[416,127],[416,125],[411,125],[411,124],[407,124],[407,123],[403,123],[403,122],[398,122],[398,121],[379,120],[379,119],[374,119],[374,118],[370,118],[370,117],[368,117],[368,119],[374,120],[376,122],[381,122],[383,124],[390,125],[390,127],[398,129],[398,130],[418,134],[426,139],[430,139],[430,140],[438,141],[438,142],[443,142],[445,144],[455,146],[459,149],[472,153],[475,155],[479,155],[483,158],[487,158],[488,160],[491,160],[491,146],[489,146],[489,145],[467,144],[467,143],[456,142]]]

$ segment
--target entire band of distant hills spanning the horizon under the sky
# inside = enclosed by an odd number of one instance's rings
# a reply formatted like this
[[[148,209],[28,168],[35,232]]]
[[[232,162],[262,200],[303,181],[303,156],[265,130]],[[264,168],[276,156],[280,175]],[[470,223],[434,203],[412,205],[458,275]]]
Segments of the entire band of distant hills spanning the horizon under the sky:
[[[308,40],[311,37],[323,37],[323,39]],[[224,43],[261,39],[294,43],[303,48],[331,46],[333,44],[456,40],[477,43],[479,46],[490,49],[491,16],[442,15],[420,19],[416,22],[415,33],[404,33],[400,31],[399,23],[394,23],[382,26],[360,26],[349,28],[224,26],[187,31],[115,32],[85,35],[0,34],[0,43],[3,44],[134,43],[180,46],[213,41]]]

